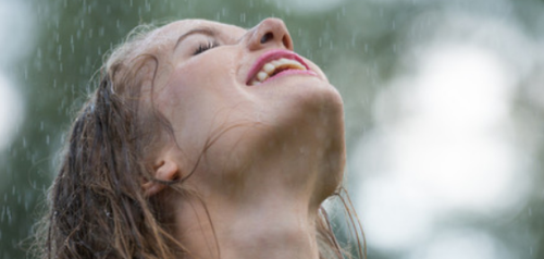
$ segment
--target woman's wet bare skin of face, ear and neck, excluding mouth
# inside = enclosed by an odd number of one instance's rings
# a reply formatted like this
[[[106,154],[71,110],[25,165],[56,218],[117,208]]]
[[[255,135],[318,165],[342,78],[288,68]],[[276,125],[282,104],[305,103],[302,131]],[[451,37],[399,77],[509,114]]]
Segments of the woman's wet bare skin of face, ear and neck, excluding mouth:
[[[275,18],[249,30],[180,21],[148,41],[160,62],[144,90],[152,91],[177,143],[164,143],[156,176],[184,177],[203,155],[183,184],[205,201],[222,258],[317,258],[314,217],[339,185],[345,163],[343,103],[323,72],[302,58],[314,74],[248,85],[263,53],[293,51]],[[201,206],[160,186],[147,189],[168,200],[175,233],[190,250],[217,256]]]

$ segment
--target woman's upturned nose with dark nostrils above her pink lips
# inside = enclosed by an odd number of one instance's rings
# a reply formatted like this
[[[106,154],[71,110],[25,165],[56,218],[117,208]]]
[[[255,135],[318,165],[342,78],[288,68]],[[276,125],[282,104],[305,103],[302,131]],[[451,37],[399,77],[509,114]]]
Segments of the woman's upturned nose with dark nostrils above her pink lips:
[[[263,48],[286,48],[293,50],[293,39],[287,27],[280,18],[267,18],[255,26],[248,34],[249,50]]]

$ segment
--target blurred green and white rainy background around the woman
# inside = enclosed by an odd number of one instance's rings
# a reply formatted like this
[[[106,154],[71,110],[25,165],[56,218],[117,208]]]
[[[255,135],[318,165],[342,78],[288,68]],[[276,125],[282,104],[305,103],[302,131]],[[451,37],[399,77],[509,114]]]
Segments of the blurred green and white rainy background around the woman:
[[[369,258],[544,258],[543,0],[0,0],[0,258],[27,257],[106,51],[141,23],[269,16],[344,98]]]

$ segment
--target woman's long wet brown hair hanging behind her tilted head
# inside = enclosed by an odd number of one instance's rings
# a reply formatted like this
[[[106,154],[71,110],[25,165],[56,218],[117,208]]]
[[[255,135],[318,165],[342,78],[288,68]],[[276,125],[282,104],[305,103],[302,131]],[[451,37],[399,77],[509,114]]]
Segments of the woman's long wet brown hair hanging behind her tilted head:
[[[172,137],[152,96],[150,102],[141,98],[144,85],[152,85],[159,66],[159,58],[145,49],[152,32],[140,26],[111,52],[96,90],[76,115],[37,234],[40,258],[163,259],[189,252],[173,236],[161,200],[145,197],[141,190],[144,180],[161,182],[152,176],[150,156],[157,153],[156,143]],[[182,181],[161,183],[183,192]],[[338,245],[323,208],[320,215],[320,258],[344,258],[349,252]],[[362,258],[361,242],[357,245]]]

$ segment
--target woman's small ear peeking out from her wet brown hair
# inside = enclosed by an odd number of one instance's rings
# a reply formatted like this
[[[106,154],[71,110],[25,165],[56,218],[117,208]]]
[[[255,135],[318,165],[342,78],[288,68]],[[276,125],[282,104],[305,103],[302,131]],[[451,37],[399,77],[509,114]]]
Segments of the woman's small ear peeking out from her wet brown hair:
[[[154,178],[159,181],[170,182],[181,177],[180,166],[174,160],[164,159],[157,162],[153,166]],[[165,184],[146,180],[141,184],[141,189],[144,190],[144,196],[150,197],[166,187]]]

